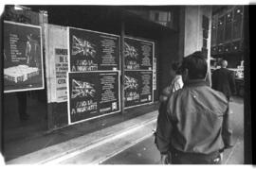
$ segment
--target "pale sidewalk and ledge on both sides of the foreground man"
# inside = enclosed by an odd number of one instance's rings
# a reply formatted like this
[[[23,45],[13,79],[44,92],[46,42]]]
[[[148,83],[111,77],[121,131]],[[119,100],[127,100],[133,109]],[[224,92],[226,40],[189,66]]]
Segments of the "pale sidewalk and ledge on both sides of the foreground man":
[[[244,109],[243,101],[234,98],[230,102],[232,113],[232,125],[234,128],[235,146],[224,154],[224,163],[244,163]],[[158,163],[159,153],[155,149],[153,130],[155,129],[157,111],[138,116],[131,120],[119,123],[112,127],[106,127],[90,134],[55,144],[39,151],[29,153],[17,159],[8,161],[7,164],[90,164],[90,163],[119,163],[136,164],[141,161],[133,161],[137,157],[137,151],[142,148],[147,163]],[[151,148],[149,148],[151,147]],[[132,151],[133,150],[133,151]],[[148,152],[148,151],[151,152]],[[130,153],[130,159],[127,158]],[[126,154],[125,154],[126,153]],[[134,154],[133,154],[134,153]],[[153,154],[153,156],[151,156]],[[142,156],[143,153],[140,153]],[[125,158],[123,157],[125,156]],[[154,157],[154,159],[152,159]]]

